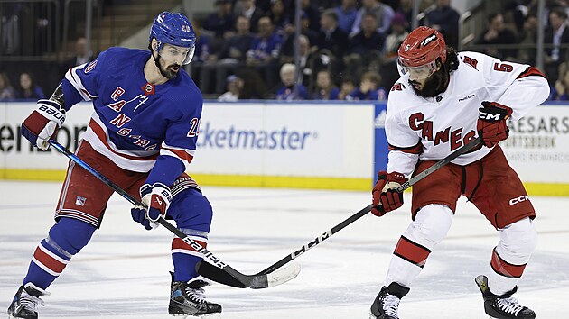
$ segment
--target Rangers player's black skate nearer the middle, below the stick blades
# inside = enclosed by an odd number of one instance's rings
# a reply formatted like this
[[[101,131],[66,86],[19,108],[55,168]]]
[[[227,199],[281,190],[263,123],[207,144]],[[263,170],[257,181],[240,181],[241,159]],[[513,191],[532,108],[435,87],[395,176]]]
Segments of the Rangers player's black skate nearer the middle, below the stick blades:
[[[191,282],[173,281],[171,284],[170,305],[168,313],[185,315],[187,318],[218,319],[221,318],[221,305],[206,301],[203,287],[209,284],[203,280]]]

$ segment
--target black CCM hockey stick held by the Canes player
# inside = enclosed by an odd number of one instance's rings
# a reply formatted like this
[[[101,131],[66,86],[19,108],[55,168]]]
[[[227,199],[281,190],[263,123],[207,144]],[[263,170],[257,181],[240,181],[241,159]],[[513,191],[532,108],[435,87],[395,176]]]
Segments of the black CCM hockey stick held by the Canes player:
[[[407,188],[412,187],[421,179],[426,178],[427,176],[431,175],[435,170],[442,168],[443,166],[450,163],[452,160],[456,159],[457,157],[461,156],[462,154],[474,149],[475,147],[478,147],[480,145],[480,143],[481,143],[480,137],[474,139],[473,141],[468,142],[466,145],[462,146],[462,148],[453,151],[449,156],[445,157],[443,160],[437,161],[430,168],[425,169],[421,173],[415,175],[415,177],[406,181],[406,183],[404,183],[400,187],[397,187],[397,189],[396,189],[397,192],[401,193],[401,192],[405,191]],[[297,251],[292,252],[291,254],[285,256],[282,260],[276,261],[273,265],[271,265],[271,266],[267,267],[266,269],[264,269],[263,271],[257,273],[257,275],[270,274],[271,272],[275,271],[276,269],[283,267],[286,263],[294,260],[298,256],[302,255],[304,252],[310,250],[314,246],[316,246],[319,243],[323,242],[324,240],[330,238],[331,235],[333,235],[334,233],[340,232],[340,230],[344,229],[350,223],[354,223],[355,221],[359,220],[359,218],[361,218],[363,215],[368,214],[371,211],[371,208],[373,208],[373,205],[371,205],[371,204],[366,206],[365,208],[361,209],[358,213],[351,215],[345,221],[335,225],[334,227],[332,227],[327,232],[322,233],[322,235],[316,237],[312,242],[308,242],[307,244],[303,245],[303,247],[301,247]],[[232,287],[240,287],[240,288],[245,287],[244,285],[239,283],[237,280],[235,280],[235,278],[229,277],[226,273],[224,273],[223,271],[220,271],[219,268],[212,266],[207,262],[198,263],[197,268],[198,268],[198,273],[205,278],[209,278],[209,279],[217,281],[221,284],[225,284],[225,285],[232,286]]]

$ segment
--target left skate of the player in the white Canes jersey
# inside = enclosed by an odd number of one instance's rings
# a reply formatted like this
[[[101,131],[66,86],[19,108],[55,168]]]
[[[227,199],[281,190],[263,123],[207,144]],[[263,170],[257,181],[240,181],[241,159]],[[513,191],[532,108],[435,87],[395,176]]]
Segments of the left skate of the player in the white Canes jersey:
[[[399,319],[397,308],[401,298],[408,292],[409,288],[396,282],[389,284],[389,287],[382,287],[369,309],[369,319]]]

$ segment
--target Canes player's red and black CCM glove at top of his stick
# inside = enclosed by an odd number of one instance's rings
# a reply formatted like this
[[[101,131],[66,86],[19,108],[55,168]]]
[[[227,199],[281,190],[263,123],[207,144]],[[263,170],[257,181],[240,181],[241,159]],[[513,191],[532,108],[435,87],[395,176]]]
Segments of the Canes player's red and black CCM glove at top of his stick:
[[[508,139],[509,129],[506,120],[512,115],[512,109],[497,102],[482,102],[478,109],[476,130],[486,147],[493,147],[500,141]]]

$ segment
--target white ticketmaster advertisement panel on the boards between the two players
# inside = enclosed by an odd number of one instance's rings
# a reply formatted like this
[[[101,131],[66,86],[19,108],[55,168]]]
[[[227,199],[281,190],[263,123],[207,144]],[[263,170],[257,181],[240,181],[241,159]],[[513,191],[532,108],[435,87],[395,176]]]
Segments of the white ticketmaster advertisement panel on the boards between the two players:
[[[203,108],[196,172],[369,178],[373,105],[221,104]]]

